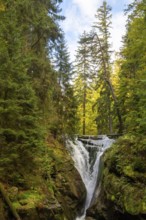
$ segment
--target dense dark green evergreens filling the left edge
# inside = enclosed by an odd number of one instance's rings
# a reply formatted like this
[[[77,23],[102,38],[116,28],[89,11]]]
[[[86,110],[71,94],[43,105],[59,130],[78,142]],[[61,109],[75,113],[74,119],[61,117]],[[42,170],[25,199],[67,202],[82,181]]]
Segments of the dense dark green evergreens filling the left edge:
[[[30,169],[45,140],[42,130],[50,129],[57,115],[57,74],[49,56],[60,35],[60,2],[0,5],[0,164],[5,173],[13,166]]]

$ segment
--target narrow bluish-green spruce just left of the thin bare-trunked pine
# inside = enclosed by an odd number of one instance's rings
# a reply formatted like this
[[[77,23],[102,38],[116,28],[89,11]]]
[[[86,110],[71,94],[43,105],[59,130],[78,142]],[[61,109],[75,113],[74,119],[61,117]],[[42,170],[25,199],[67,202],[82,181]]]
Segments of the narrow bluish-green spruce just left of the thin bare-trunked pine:
[[[63,134],[75,134],[76,124],[76,101],[71,85],[73,68],[70,62],[64,33],[58,41],[56,49],[56,69],[60,85],[60,97],[58,99],[58,113],[60,116],[60,132]]]

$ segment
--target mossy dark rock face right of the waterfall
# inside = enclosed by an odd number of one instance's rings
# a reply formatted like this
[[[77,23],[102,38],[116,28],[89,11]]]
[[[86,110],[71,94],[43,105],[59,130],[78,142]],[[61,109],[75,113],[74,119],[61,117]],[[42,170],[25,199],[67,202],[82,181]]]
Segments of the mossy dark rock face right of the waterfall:
[[[139,142],[139,144],[141,144]],[[135,149],[135,141],[121,138],[104,155],[102,189],[88,211],[95,219],[146,219],[146,149]]]

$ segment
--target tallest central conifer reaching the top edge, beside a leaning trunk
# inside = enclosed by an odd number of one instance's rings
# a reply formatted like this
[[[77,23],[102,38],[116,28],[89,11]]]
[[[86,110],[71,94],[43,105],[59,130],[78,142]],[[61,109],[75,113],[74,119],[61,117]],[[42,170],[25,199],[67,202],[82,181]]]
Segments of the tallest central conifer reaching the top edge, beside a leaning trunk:
[[[97,100],[98,116],[97,125],[99,133],[113,132],[114,108],[119,120],[119,132],[122,132],[122,118],[119,104],[111,82],[111,49],[110,49],[110,26],[111,8],[106,1],[97,10],[97,21],[92,33],[93,46],[92,56],[98,65],[97,87],[100,97]]]

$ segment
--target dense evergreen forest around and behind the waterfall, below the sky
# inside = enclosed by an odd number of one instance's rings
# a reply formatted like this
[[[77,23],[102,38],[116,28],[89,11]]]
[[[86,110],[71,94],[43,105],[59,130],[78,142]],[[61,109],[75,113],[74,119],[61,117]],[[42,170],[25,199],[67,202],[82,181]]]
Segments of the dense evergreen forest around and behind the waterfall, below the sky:
[[[60,25],[65,19],[61,3],[0,0],[0,219],[74,219],[65,208],[55,217],[51,213],[43,218],[26,217],[24,210],[32,208],[32,203],[33,208],[40,205],[47,191],[53,201],[62,202],[64,194],[57,187],[60,181],[65,187],[67,177],[64,180],[59,172],[65,169],[65,161],[72,166],[71,158],[63,153],[66,138],[101,134],[120,136],[104,158],[104,187],[115,184],[106,191],[108,199],[124,207],[121,201],[125,200],[119,201],[116,194],[120,183],[108,176],[112,172],[122,178],[123,185],[135,184],[128,185],[126,195],[131,195],[130,203],[140,200],[143,208],[137,209],[136,203],[132,208],[125,205],[125,210],[143,216],[146,1],[133,0],[126,9],[126,33],[115,59],[110,41],[112,9],[103,1],[91,31],[84,31],[78,40],[74,62]],[[25,202],[28,207],[23,210]]]

